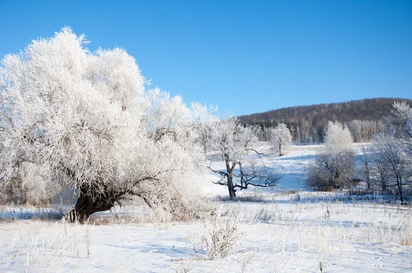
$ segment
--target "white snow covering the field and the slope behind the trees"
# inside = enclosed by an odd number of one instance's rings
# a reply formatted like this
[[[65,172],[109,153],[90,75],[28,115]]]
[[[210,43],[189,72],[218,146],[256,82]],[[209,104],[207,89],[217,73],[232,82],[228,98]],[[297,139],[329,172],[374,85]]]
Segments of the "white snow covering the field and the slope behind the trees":
[[[154,221],[126,206],[102,213],[106,222],[73,225],[14,219],[42,211],[0,207],[0,272],[412,272],[411,206],[310,191],[318,151],[271,158],[277,187],[238,191],[261,202],[215,201],[215,215],[195,222]],[[201,179],[209,197],[228,194],[210,182],[216,175]],[[211,248],[217,233],[228,239],[224,257]]]

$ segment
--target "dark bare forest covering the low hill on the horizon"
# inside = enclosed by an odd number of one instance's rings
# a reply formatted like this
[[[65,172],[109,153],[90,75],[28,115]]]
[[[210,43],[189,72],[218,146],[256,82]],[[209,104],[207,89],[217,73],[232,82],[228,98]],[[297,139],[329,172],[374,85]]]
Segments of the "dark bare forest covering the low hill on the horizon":
[[[323,142],[328,121],[339,121],[352,132],[354,141],[370,141],[382,130],[382,117],[390,115],[394,102],[407,102],[412,99],[379,97],[358,99],[350,102],[293,106],[238,117],[243,124],[259,125],[261,139],[271,139],[270,128],[278,123],[286,123],[293,141],[299,144]]]

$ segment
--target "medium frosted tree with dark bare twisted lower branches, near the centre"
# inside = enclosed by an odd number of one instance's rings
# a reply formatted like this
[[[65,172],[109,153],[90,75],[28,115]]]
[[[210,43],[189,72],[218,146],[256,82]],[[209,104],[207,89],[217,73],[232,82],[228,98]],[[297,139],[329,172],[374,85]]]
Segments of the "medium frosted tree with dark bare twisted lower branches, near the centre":
[[[255,187],[272,187],[279,180],[273,169],[265,167],[263,154],[258,147],[257,126],[242,126],[236,117],[227,117],[211,126],[208,149],[222,156],[225,169],[209,169],[222,178],[215,182],[227,186],[231,200],[236,198],[236,189]],[[258,156],[253,158],[253,156]]]

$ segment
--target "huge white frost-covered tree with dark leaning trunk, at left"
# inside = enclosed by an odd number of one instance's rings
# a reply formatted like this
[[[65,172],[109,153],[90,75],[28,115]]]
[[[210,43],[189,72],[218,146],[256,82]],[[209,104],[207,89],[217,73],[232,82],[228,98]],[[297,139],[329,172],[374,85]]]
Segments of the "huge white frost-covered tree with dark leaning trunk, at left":
[[[91,53],[69,27],[34,40],[0,67],[0,190],[21,202],[79,192],[71,221],[106,211],[126,194],[172,215],[190,210],[204,151],[199,104],[158,89],[124,49]]]

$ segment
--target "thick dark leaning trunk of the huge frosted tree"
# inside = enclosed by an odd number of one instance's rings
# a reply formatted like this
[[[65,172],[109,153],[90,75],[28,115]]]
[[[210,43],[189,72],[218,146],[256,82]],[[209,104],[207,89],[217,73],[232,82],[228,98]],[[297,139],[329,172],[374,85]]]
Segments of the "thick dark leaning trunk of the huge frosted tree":
[[[80,222],[84,224],[93,213],[100,211],[108,211],[115,205],[113,198],[96,198],[93,200],[89,194],[80,192],[80,197],[76,202],[76,206],[70,211],[67,220],[69,222]]]

